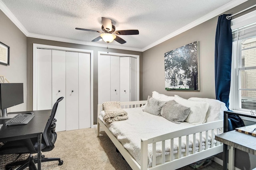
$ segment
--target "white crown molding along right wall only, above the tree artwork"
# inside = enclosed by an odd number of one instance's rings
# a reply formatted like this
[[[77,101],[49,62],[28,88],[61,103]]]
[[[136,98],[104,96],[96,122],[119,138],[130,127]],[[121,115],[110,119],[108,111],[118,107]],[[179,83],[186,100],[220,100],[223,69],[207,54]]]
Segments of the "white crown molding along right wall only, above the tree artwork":
[[[195,26],[197,26],[197,25],[199,25],[199,24],[201,24],[205,21],[208,21],[208,20],[210,20],[210,19],[226,12],[227,10],[230,10],[230,9],[232,9],[232,8],[238,6],[238,5],[240,5],[240,4],[242,4],[246,1],[248,1],[248,0],[234,0],[234,1],[230,2],[229,4],[227,4],[225,6],[222,6],[218,9],[206,14],[205,16],[199,18],[198,20],[195,20],[195,21],[189,23],[188,25],[178,29],[177,31],[174,31],[174,32],[170,33],[169,35],[159,39],[158,41],[144,47],[142,49],[142,51],[146,51],[146,50],[148,50],[148,49],[150,49],[150,48],[152,48],[152,47],[154,47],[154,46],[156,46],[156,45],[158,45],[158,44],[160,44],[160,43],[162,43],[162,42],[164,42],[168,39],[171,39],[172,37],[175,37],[176,35],[179,35],[179,34],[185,32],[185,31],[187,31],[187,30],[189,30],[189,29],[191,29],[191,28],[193,28],[193,27],[195,27]]]

